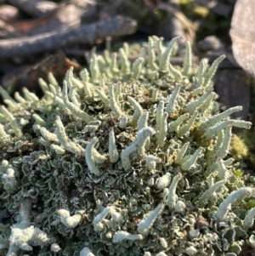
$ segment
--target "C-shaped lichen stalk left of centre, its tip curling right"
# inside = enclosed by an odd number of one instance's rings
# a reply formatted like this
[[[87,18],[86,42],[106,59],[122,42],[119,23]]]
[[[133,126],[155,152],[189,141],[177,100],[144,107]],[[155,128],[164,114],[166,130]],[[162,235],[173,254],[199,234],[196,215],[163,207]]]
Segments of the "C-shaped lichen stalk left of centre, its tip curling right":
[[[99,168],[96,167],[96,162],[94,159],[94,146],[96,145],[96,143],[99,141],[98,138],[94,137],[93,139],[90,140],[90,142],[88,143],[88,145],[86,146],[86,151],[85,151],[85,159],[88,165],[88,170],[99,176],[101,174],[101,172],[99,171]]]

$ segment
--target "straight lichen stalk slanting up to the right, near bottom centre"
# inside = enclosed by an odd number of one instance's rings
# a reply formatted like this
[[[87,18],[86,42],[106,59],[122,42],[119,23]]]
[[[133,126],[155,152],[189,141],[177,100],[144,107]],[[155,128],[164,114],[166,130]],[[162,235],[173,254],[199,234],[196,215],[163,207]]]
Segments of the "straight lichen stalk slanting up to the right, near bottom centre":
[[[156,218],[159,217],[165,205],[160,203],[145,219],[143,219],[139,224],[137,230],[141,234],[147,234],[150,230],[151,226],[156,221]]]

